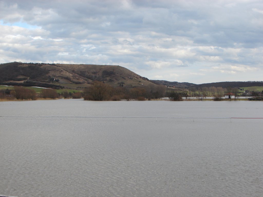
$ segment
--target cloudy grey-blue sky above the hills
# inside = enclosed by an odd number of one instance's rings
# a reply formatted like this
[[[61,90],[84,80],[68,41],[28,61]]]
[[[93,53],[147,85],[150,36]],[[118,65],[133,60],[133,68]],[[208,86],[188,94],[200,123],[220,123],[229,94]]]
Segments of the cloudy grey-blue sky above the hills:
[[[120,65],[148,79],[263,81],[262,0],[0,0],[0,63]]]

